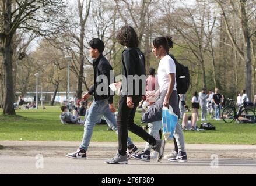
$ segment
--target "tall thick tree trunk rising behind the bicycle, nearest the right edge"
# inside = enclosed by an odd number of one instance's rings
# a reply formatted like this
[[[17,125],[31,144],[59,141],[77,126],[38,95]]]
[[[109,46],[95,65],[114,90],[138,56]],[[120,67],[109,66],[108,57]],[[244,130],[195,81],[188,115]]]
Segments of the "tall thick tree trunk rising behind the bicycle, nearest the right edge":
[[[246,93],[248,98],[251,100],[253,98],[251,92],[251,80],[252,80],[252,58],[251,58],[251,41],[250,41],[250,33],[248,30],[248,17],[246,13],[246,2],[247,0],[240,0],[241,5],[241,23],[243,28],[244,34],[244,41],[245,41],[245,55],[244,60],[246,62],[246,69],[245,69],[245,85],[246,85]]]

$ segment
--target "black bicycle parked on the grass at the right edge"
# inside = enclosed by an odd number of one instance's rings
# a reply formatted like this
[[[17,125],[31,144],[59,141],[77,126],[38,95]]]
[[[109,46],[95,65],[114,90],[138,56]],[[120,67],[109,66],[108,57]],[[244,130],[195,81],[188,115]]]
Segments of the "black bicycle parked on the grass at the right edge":
[[[256,115],[255,115],[255,106],[254,109],[250,109],[247,107],[251,107],[252,103],[243,102],[239,109],[236,111],[235,106],[226,106],[222,111],[222,119],[225,123],[232,123],[235,120],[241,122],[241,119],[244,119],[246,116],[250,117],[252,123],[256,123]]]

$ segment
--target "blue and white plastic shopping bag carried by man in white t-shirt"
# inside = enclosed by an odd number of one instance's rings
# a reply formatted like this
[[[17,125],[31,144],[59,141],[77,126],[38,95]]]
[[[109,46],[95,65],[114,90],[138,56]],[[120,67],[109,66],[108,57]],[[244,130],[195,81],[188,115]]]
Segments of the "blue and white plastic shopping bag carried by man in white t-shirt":
[[[178,123],[178,116],[173,112],[173,108],[163,107],[162,124],[163,135],[165,140],[173,140],[173,134]]]

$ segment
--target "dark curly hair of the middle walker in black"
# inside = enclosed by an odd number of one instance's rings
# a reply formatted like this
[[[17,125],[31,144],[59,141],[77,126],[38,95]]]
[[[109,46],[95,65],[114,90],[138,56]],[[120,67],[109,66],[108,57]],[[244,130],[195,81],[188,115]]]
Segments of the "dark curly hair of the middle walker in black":
[[[138,35],[131,26],[124,26],[117,32],[117,41],[125,47],[139,46]]]

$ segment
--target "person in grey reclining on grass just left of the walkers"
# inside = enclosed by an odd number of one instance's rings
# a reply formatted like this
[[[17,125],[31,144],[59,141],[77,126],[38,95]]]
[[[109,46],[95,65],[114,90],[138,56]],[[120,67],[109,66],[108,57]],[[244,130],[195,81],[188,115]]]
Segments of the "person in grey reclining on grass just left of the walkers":
[[[80,120],[81,116],[78,116],[78,112],[74,109],[73,113],[68,112],[67,106],[61,106],[61,119],[62,124],[83,124],[83,121]]]

